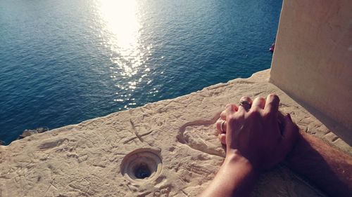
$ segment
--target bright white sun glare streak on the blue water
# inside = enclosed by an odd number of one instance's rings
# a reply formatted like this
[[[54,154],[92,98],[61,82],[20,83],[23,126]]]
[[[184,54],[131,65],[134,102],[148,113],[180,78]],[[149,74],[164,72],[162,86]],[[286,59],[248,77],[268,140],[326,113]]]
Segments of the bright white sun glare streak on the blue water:
[[[111,79],[115,82],[115,87],[119,90],[129,90],[133,92],[139,83],[150,83],[150,80],[144,81],[150,72],[145,60],[151,55],[152,45],[144,45],[141,40],[142,25],[139,20],[139,4],[137,1],[96,1],[96,7],[99,10],[99,16],[103,29],[103,46],[110,48],[110,59],[112,65]],[[136,77],[139,74],[139,77]],[[122,83],[125,79],[127,83]],[[131,95],[120,95],[115,102],[125,102]],[[130,98],[133,101],[134,98]],[[125,105],[135,105],[135,102],[129,102]]]

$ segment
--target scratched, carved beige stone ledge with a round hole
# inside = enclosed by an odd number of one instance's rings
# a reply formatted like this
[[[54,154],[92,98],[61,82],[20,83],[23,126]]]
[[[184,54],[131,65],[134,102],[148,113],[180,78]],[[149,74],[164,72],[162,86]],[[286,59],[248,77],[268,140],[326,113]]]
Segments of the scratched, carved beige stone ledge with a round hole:
[[[0,146],[0,196],[196,196],[223,161],[212,135],[218,112],[243,95],[276,93],[279,109],[303,130],[351,154],[343,140],[268,83],[269,72]],[[149,166],[151,176],[136,179],[146,167],[137,165]],[[261,177],[253,196],[323,195],[279,166]]]

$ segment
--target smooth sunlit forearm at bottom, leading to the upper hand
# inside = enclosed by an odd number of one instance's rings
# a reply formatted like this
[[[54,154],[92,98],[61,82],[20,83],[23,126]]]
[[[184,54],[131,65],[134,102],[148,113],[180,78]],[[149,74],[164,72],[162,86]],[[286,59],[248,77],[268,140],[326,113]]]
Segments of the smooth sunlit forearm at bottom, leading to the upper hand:
[[[238,154],[230,154],[201,196],[249,196],[258,177],[251,163]]]

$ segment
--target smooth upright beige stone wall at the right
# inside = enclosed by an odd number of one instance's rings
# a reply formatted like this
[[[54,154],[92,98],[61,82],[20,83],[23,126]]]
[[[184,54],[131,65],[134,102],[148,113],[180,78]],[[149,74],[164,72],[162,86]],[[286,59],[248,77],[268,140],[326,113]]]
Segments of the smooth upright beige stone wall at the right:
[[[271,68],[272,83],[327,116],[325,125],[350,145],[351,20],[351,0],[284,0]]]

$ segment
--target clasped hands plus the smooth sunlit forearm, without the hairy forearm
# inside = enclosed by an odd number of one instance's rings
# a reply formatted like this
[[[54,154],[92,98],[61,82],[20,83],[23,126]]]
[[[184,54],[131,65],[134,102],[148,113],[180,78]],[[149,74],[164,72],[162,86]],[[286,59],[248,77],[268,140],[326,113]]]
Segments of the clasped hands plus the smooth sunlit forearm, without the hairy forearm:
[[[298,127],[279,112],[277,95],[242,97],[239,103],[228,104],[216,123],[226,157],[201,196],[248,196],[260,172],[283,161],[294,146]]]

